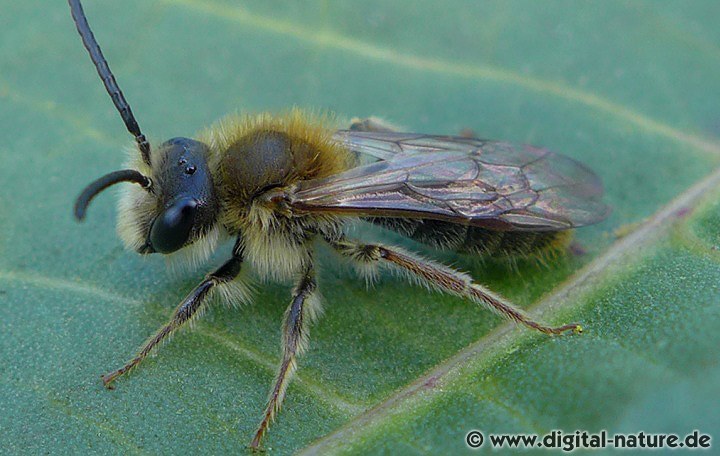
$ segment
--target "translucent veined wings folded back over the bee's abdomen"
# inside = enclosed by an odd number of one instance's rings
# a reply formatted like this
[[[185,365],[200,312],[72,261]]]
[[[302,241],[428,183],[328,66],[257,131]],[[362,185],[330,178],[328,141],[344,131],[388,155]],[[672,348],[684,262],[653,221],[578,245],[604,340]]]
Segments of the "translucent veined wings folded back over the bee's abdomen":
[[[589,225],[609,213],[599,178],[547,149],[387,132],[341,131],[336,139],[380,161],[301,182],[294,208],[533,231]]]

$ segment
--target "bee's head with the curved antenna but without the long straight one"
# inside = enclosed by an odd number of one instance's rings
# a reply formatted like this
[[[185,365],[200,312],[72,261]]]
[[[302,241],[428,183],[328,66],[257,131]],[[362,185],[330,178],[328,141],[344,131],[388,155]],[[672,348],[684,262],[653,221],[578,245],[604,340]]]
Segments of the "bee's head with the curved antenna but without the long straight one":
[[[133,182],[120,200],[118,232],[139,253],[175,252],[210,233],[218,201],[208,167],[209,149],[188,138],[165,141],[152,154],[152,165],[107,174],[88,185],[75,203],[82,220],[95,195],[119,182]]]

